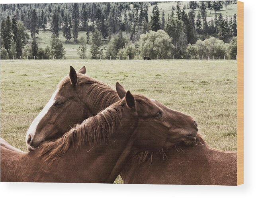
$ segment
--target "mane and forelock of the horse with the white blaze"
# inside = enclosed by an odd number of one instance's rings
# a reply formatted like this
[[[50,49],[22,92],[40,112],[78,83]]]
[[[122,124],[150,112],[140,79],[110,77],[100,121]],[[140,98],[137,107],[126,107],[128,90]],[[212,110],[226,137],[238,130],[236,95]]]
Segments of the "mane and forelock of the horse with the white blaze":
[[[68,83],[70,83],[70,79],[66,76],[59,83],[58,87],[63,88]],[[87,75],[77,73],[77,85],[85,84],[91,85],[88,90],[88,100],[90,100],[92,106],[97,107],[99,110],[105,109],[120,99],[117,96],[117,92],[109,85]]]

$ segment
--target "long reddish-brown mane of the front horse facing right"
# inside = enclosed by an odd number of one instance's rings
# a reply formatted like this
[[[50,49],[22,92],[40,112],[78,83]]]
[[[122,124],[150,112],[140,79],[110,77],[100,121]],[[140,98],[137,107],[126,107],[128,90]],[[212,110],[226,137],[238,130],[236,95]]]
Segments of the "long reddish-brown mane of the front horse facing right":
[[[101,144],[113,133],[117,125],[121,124],[124,105],[125,101],[120,100],[81,124],[77,124],[58,140],[44,142],[39,148],[39,156],[45,156],[46,161],[53,162],[66,154],[72,145],[79,148],[88,142],[93,148]]]

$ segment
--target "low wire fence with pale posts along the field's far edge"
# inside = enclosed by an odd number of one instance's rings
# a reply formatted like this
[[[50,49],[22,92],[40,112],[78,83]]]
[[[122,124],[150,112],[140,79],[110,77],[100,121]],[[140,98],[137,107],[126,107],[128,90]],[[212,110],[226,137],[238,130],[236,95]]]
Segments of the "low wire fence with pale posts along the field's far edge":
[[[130,57],[125,56],[125,57],[120,57],[120,56],[101,56],[98,55],[94,58],[92,56],[85,56],[82,58],[79,58],[78,56],[64,56],[63,58],[53,58],[51,56],[0,56],[0,60],[145,60],[145,61],[150,61],[150,60],[227,60],[227,57],[225,55],[222,56],[198,56],[198,55],[191,55],[191,56],[166,56],[166,57],[161,57],[161,56],[135,56],[135,57]],[[233,57],[232,60],[237,60],[237,55],[236,57]]]

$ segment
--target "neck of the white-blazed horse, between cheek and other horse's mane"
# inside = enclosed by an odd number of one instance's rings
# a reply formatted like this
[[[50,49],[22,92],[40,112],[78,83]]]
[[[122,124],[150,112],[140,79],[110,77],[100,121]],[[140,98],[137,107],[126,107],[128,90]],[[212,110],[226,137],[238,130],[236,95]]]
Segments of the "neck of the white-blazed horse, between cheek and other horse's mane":
[[[96,115],[111,104],[120,100],[117,92],[111,87],[97,83],[83,85],[80,98],[82,98],[83,103],[86,105],[91,115]]]

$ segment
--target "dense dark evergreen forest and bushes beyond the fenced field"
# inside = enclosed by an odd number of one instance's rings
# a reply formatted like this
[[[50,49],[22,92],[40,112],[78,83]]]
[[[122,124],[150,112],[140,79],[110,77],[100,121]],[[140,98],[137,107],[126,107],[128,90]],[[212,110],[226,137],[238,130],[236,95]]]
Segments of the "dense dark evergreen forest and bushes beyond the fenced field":
[[[216,14],[223,6],[227,8],[231,3],[236,2],[190,1],[181,8],[182,4],[177,2],[176,6],[172,6],[171,14],[167,16],[164,10],[160,14],[157,2],[1,4],[1,56],[6,53],[19,57],[26,52],[35,57],[45,55],[63,58],[65,51],[58,38],[60,31],[66,42],[72,39],[81,45],[77,52],[80,57],[86,56],[86,44],[92,45],[92,58],[102,56],[103,52],[106,57],[113,54],[112,58],[117,54],[119,57],[125,57],[127,54],[135,57],[135,51],[137,55],[147,53],[144,55],[149,56],[150,50],[141,52],[141,39],[150,31],[162,30],[161,35],[166,33],[171,40],[167,39],[166,42],[170,41],[172,44],[165,46],[164,50],[177,58],[183,58],[190,51],[187,48],[195,45],[198,40],[215,37],[224,44],[234,40],[237,35],[236,14],[225,17],[221,13]],[[153,6],[151,16],[149,6]],[[186,9],[190,9],[189,12]],[[196,9],[199,10],[197,15]],[[209,21],[207,12],[211,11],[214,11],[215,15]],[[39,29],[52,32],[51,48],[39,48],[36,36]],[[30,36],[26,30],[29,30]],[[79,31],[86,31],[86,38],[78,40]],[[125,38],[120,42],[123,35]],[[118,38],[119,43],[114,44]],[[109,44],[102,46],[102,39],[109,40]],[[167,53],[164,50],[161,49],[160,52],[158,49],[155,54],[160,53],[159,56],[163,57],[162,54]],[[58,52],[60,53],[57,54]]]

